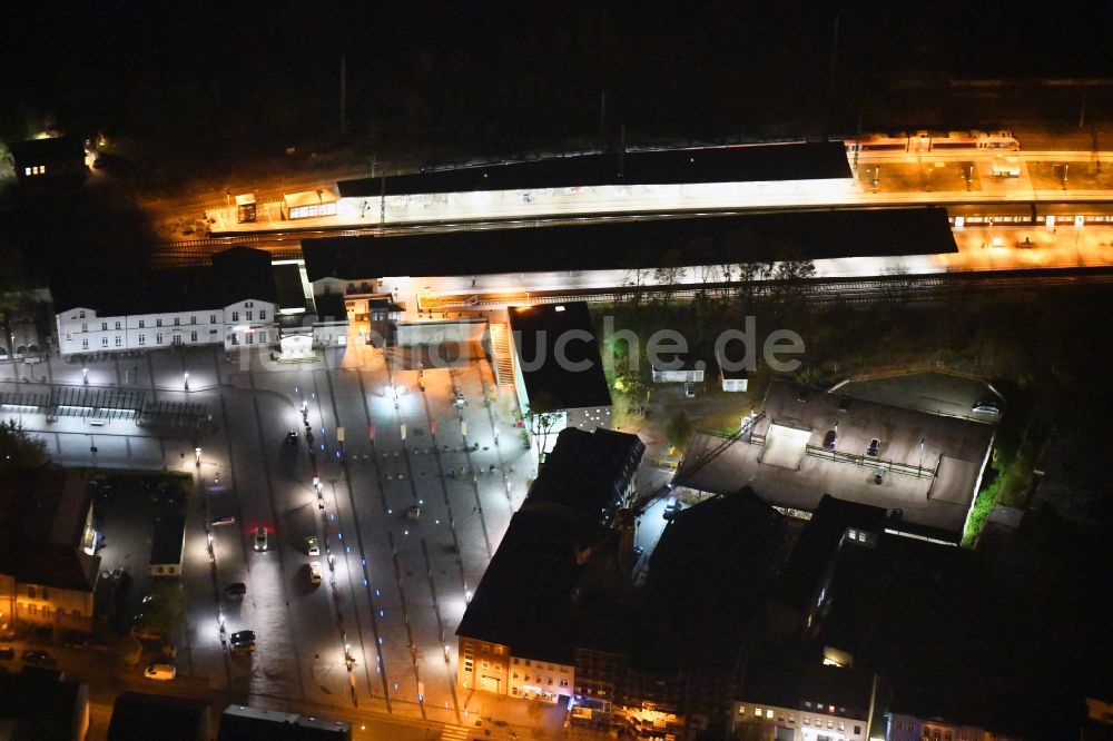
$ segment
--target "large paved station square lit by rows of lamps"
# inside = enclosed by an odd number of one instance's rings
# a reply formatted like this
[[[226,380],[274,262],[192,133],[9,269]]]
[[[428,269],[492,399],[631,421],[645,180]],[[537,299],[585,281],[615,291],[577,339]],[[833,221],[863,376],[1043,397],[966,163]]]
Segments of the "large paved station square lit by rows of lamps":
[[[455,626],[535,475],[513,394],[495,387],[481,354],[432,367],[404,349],[353,345],[276,367],[208,348],[85,366],[55,358],[40,375],[69,388],[141,389],[211,415],[157,429],[24,417],[63,465],[190,476],[185,613],[173,636],[181,679],[248,698],[469,723],[480,700],[456,694]],[[48,387],[20,388],[37,386]],[[149,523],[135,517],[115,525],[149,537]],[[105,566],[141,572],[149,553],[115,550],[125,540],[115,525],[106,523]],[[267,547],[256,551],[258,527]],[[319,556],[307,554],[308,536]],[[235,582],[246,585],[242,597],[223,593]],[[230,650],[242,630],[257,634],[254,652]]]

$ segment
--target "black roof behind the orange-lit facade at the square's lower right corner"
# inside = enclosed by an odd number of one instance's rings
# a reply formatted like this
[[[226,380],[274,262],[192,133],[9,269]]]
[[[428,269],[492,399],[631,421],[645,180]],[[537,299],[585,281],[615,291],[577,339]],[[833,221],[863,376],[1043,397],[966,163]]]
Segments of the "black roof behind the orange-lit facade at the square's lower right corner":
[[[574,510],[523,505],[483,573],[456,635],[509,645],[512,653],[571,664],[579,631],[573,596],[577,551],[609,531]]]

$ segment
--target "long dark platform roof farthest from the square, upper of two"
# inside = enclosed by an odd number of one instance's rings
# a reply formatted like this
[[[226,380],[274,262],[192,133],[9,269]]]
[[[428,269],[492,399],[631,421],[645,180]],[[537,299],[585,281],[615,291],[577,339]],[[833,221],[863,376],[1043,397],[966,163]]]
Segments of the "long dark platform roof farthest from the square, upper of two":
[[[853,177],[841,142],[792,142],[624,155],[579,155],[342,180],[345,198],[613,185],[752,182]]]

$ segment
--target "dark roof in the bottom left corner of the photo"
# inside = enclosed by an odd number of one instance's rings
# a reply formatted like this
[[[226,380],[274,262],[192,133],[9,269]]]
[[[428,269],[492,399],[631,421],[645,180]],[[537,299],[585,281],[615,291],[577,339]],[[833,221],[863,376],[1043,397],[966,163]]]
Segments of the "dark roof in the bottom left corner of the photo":
[[[87,684],[47,675],[0,672],[0,721],[10,739],[72,739],[87,710]],[[0,723],[0,725],[4,725]]]

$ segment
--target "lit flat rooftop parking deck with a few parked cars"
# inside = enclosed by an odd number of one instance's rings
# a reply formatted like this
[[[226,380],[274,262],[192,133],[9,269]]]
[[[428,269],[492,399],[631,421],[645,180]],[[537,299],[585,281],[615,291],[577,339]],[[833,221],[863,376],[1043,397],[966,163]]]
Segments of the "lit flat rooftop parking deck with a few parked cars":
[[[831,494],[900,510],[902,522],[913,526],[962,532],[993,439],[992,426],[859,398],[839,412],[840,394],[809,389],[807,401],[800,402],[801,389],[797,384],[774,382],[765,401],[767,416],[754,429],[756,441],[736,442],[698,465],[702,454],[718,447],[722,438],[697,433],[677,473],[678,482],[715,493],[750,483],[770,504],[806,512],[814,511],[824,494]],[[835,453],[817,451],[836,422]],[[762,463],[772,425],[804,431],[812,451],[804,455],[800,443],[802,457],[797,468]],[[867,456],[874,437],[880,442],[878,455]],[[923,475],[917,477],[922,461]],[[874,483],[878,466],[886,468],[881,485]]]

